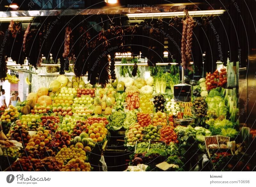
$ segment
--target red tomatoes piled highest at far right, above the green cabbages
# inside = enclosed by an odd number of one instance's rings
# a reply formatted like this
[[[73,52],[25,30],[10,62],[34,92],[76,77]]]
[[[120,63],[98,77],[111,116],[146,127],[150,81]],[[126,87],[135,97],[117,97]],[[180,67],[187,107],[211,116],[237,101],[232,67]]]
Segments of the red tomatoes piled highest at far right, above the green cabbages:
[[[220,72],[216,69],[212,74],[211,72],[206,73],[205,84],[207,90],[212,90],[213,88],[223,87],[226,88],[227,85],[227,71],[226,68],[221,68]]]

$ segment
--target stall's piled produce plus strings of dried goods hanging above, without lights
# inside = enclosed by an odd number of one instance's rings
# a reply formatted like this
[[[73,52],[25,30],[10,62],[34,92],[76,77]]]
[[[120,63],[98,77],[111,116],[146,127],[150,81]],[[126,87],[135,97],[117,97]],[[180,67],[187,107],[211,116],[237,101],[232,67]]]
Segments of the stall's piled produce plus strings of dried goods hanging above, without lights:
[[[16,63],[27,57],[35,69],[43,63],[43,56],[46,61],[59,61],[60,68],[49,65],[46,72],[61,75],[47,85],[39,80],[38,89],[16,106],[1,106],[3,132],[22,145],[3,146],[0,156],[12,159],[7,170],[93,171],[99,167],[97,156],[103,156],[108,146],[108,150],[124,152],[126,158],[121,162],[129,165],[129,171],[251,170],[245,160],[252,155],[244,149],[255,140],[256,131],[239,129],[236,88],[227,89],[228,68],[213,68],[196,80],[185,77],[185,70],[195,71],[196,23],[188,12],[182,23],[181,66],[172,58],[172,64],[161,67],[157,63],[164,58],[165,28],[160,18],[152,18],[151,26],[145,20],[127,28],[112,22],[108,30],[102,26],[97,32],[87,30],[83,20],[77,28],[72,23],[63,26],[62,20],[61,28],[54,27],[49,36],[52,21],[33,29],[28,24],[24,35],[12,21],[8,37],[23,39],[23,56],[10,54],[10,46],[4,48],[5,56]],[[0,32],[1,42],[4,34]],[[149,38],[141,41],[140,35]],[[46,49],[52,39],[54,44]],[[19,41],[14,41],[15,49]],[[118,53],[121,65],[117,70]],[[138,60],[146,57],[147,63]],[[2,58],[0,64],[1,81],[22,81],[7,73]],[[147,66],[143,73],[139,70],[142,64]],[[62,75],[65,71],[70,74]],[[25,82],[34,86],[28,77]],[[208,161],[202,164],[205,157]]]

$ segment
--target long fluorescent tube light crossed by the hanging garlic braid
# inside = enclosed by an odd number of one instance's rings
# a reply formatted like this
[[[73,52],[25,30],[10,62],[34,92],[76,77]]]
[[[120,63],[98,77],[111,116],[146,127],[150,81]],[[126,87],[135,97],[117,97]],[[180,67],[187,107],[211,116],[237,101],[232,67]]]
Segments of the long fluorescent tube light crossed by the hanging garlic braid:
[[[188,11],[190,16],[201,17],[208,15],[221,15],[224,14],[225,10],[212,10],[212,11]],[[137,14],[126,14],[128,18],[169,18],[173,16],[184,17],[184,12],[156,12],[156,13],[137,13]]]

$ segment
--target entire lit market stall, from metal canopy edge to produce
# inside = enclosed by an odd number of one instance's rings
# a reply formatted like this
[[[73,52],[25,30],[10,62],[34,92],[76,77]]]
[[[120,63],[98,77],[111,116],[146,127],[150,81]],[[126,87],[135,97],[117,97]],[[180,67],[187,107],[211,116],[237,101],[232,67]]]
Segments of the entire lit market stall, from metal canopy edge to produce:
[[[229,14],[200,5],[204,13],[192,15],[199,8],[186,4],[163,5],[182,9],[171,17],[147,8],[160,14],[137,19],[139,10],[122,6],[72,15],[69,7],[1,24],[1,91],[19,89],[21,101],[0,106],[0,140],[9,142],[0,170],[255,170],[256,129],[239,123],[247,59],[235,62],[225,28],[222,51],[215,44]]]

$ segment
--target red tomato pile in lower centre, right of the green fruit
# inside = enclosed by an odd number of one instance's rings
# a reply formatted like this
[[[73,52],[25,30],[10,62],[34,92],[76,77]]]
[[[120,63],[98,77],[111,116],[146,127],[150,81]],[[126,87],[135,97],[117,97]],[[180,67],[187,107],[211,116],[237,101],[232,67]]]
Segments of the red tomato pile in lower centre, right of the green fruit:
[[[173,131],[172,126],[164,126],[160,130],[160,141],[164,141],[167,145],[171,142],[179,143],[177,134]]]

